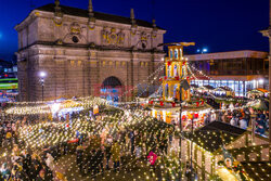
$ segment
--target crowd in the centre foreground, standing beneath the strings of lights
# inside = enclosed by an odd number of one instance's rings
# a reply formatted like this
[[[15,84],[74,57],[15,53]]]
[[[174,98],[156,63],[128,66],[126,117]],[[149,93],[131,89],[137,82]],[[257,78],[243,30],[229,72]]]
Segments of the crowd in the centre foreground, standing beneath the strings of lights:
[[[167,154],[172,134],[173,127],[158,130],[155,125],[147,128],[143,124],[106,135],[94,134],[77,146],[77,165],[82,174],[90,173],[93,178],[105,170],[120,171],[131,166],[132,160],[138,167],[151,153]],[[154,169],[155,161],[150,163]]]

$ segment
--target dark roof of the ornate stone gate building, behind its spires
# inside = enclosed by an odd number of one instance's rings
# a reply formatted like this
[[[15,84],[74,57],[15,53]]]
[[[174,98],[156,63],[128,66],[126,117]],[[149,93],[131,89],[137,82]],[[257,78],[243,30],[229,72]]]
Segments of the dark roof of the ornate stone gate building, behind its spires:
[[[46,11],[46,12],[55,12],[54,8],[55,8],[54,3],[49,3],[49,4],[42,5],[40,8],[37,8],[36,10]],[[60,5],[60,8],[61,8],[61,12],[63,14],[80,16],[80,17],[89,17],[88,10],[73,8],[73,7],[66,7],[66,5]],[[128,25],[131,24],[130,17],[106,14],[106,13],[101,13],[101,12],[95,12],[95,11],[94,11],[94,17],[96,20],[100,20],[100,21],[115,22],[115,23],[121,23],[121,24],[128,24]],[[136,24],[138,26],[153,28],[153,24],[147,22],[147,21],[136,20]],[[163,29],[158,26],[157,26],[157,28]]]

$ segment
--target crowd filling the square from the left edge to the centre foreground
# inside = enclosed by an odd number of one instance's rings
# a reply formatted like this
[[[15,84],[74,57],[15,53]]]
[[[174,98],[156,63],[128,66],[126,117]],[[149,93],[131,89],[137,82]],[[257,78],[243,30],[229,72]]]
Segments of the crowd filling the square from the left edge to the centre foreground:
[[[72,119],[76,119],[77,116],[73,116]],[[100,117],[103,116],[106,117],[106,114]],[[150,160],[154,170],[155,161],[150,154],[156,157],[166,154],[173,134],[173,127],[162,121],[158,124],[149,121],[149,125],[137,122],[124,129],[112,127],[113,131],[105,134],[103,121],[99,119],[91,121],[95,130],[80,133],[76,141],[29,148],[20,139],[18,130],[39,121],[27,117],[4,117],[0,120],[0,147],[4,151],[0,152],[0,155],[3,155],[0,156],[0,181],[65,180],[64,173],[55,163],[68,154],[76,155],[76,164],[81,174],[92,178],[106,170],[117,172],[126,167],[137,167],[142,160],[145,163]],[[131,161],[136,164],[131,165]]]

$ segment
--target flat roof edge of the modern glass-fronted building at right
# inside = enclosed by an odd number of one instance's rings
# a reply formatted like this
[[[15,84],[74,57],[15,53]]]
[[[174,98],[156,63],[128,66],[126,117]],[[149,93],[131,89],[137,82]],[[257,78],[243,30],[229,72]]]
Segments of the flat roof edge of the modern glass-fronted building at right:
[[[204,53],[186,55],[190,61],[205,61],[205,60],[224,60],[224,59],[268,59],[268,52],[255,51],[255,50],[240,50],[229,52],[217,52],[217,53]]]

